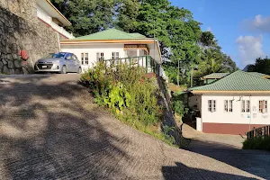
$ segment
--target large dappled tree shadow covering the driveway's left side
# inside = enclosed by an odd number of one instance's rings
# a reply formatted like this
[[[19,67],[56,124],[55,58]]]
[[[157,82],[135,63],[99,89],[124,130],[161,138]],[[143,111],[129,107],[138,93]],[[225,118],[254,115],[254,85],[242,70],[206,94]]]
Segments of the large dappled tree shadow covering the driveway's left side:
[[[103,111],[85,106],[91,96],[71,76],[52,77],[1,85],[0,179],[126,176],[115,163],[129,156],[98,121]]]

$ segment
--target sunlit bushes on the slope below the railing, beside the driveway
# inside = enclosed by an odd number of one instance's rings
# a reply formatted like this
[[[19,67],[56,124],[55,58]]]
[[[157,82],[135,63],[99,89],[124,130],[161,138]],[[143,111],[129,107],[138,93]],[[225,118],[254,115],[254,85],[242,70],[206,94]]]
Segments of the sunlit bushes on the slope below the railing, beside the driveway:
[[[122,121],[170,144],[175,141],[158,128],[163,110],[157,103],[157,79],[144,68],[98,64],[81,76],[80,83],[88,87],[95,103],[107,106]]]

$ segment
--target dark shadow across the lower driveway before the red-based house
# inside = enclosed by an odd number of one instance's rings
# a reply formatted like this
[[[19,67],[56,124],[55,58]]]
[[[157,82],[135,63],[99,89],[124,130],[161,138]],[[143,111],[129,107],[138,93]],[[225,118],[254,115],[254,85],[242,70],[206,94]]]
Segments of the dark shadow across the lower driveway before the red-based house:
[[[270,153],[260,150],[243,150],[211,141],[195,139],[188,150],[214,158],[230,166],[237,167],[252,175],[270,179]]]

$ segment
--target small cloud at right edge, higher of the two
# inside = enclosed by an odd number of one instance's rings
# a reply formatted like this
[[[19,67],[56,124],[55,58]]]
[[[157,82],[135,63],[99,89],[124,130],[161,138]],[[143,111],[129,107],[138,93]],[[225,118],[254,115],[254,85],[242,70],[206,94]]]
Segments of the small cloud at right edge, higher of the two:
[[[245,20],[243,25],[248,31],[270,32],[270,16],[258,14],[252,20]]]

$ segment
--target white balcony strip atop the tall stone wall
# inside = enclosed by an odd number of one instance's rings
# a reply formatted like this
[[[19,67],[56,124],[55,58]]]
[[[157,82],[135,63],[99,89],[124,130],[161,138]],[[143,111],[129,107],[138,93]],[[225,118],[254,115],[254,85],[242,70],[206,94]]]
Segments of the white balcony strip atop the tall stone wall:
[[[52,29],[55,31],[58,31],[58,33],[62,34],[63,36],[67,37],[68,39],[74,39],[75,37],[72,35],[72,33],[69,33],[64,28],[58,26],[58,24],[52,22],[52,18],[49,17],[48,14],[42,13],[39,9],[37,9],[37,15],[40,20],[42,20],[44,23],[47,23]]]

